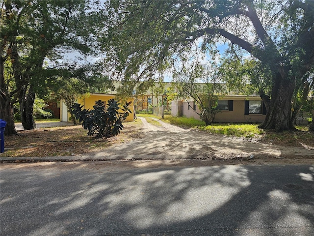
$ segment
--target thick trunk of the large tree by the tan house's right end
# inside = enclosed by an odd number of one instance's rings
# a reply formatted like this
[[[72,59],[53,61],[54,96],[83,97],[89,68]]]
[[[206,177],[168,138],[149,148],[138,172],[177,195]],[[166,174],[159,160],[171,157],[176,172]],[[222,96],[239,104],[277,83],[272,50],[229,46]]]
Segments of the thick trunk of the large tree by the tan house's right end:
[[[273,81],[266,118],[259,127],[275,129],[278,132],[292,130],[294,127],[291,120],[291,99],[295,89],[295,80],[282,79],[278,73]]]

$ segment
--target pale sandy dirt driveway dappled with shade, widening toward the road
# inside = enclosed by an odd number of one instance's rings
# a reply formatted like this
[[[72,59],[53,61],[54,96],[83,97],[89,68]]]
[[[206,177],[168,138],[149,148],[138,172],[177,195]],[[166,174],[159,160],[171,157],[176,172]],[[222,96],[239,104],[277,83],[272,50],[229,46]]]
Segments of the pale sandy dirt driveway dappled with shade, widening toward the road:
[[[158,120],[143,122],[142,138],[89,155],[103,160],[204,160],[254,163],[314,164],[314,148],[283,147],[235,137],[183,129]],[[156,119],[157,120],[157,119]],[[82,156],[83,157],[83,156]],[[86,158],[88,158],[86,156]]]

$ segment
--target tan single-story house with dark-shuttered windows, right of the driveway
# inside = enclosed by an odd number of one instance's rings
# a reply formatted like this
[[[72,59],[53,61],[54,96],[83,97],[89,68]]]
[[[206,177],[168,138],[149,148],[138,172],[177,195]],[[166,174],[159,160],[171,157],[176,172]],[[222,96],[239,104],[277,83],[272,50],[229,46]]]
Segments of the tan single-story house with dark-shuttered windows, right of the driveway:
[[[185,116],[200,119],[200,116],[196,113],[200,113],[200,109],[193,100],[172,101],[171,107],[171,115],[174,117]],[[219,97],[217,109],[221,112],[215,115],[214,122],[261,123],[267,112],[261,97],[257,95],[226,95]]]

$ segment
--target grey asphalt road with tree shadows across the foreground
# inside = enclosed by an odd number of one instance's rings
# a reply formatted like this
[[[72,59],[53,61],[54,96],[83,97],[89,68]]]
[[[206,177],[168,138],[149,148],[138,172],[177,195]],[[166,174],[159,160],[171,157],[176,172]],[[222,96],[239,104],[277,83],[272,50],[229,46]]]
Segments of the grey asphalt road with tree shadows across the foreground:
[[[314,166],[2,164],[1,236],[313,236]]]

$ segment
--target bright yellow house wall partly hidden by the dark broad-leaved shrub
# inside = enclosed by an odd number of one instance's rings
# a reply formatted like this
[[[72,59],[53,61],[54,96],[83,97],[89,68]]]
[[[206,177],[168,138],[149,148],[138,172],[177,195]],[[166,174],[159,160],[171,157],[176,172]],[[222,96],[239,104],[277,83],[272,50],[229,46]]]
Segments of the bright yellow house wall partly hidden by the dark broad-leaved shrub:
[[[105,102],[105,104],[108,104],[108,100],[115,98],[114,94],[102,94],[102,93],[91,93],[89,97],[86,97],[84,99],[78,100],[78,103],[83,105],[84,107],[82,109],[94,109],[93,106],[95,106],[95,102],[98,100],[102,100]],[[129,109],[131,110],[131,114],[127,117],[125,121],[133,121],[134,120],[134,98],[129,98],[128,102],[132,102],[129,105]],[[121,106],[122,107],[122,106]]]

